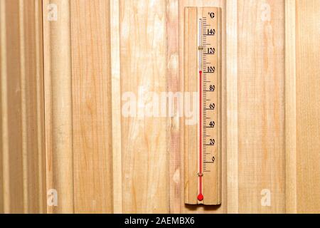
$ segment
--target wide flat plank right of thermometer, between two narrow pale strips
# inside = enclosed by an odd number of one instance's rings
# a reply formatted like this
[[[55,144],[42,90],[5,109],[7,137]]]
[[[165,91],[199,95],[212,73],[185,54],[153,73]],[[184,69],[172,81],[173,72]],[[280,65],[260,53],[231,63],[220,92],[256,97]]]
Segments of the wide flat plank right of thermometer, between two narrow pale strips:
[[[284,212],[284,1],[238,1],[238,169],[239,212]]]

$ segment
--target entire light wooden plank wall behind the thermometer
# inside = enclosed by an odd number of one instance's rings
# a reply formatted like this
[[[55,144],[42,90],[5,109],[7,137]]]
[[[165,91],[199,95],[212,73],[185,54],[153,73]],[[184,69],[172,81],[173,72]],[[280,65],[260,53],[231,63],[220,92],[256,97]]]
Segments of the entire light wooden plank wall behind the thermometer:
[[[320,1],[0,2],[0,212],[320,212]],[[183,90],[185,6],[223,11],[220,207],[183,203],[177,105],[122,115]]]

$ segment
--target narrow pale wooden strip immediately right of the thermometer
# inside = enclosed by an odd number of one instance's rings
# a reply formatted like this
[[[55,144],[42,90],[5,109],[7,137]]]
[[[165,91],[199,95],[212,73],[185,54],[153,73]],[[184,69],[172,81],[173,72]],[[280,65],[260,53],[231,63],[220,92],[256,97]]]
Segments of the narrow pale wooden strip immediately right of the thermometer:
[[[226,1],[228,213],[239,212],[238,186],[238,0]]]

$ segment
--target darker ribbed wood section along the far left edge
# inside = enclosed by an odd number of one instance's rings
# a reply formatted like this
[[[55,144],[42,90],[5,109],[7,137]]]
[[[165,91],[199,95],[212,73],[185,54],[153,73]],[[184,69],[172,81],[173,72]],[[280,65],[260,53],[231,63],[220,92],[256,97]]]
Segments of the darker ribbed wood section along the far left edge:
[[[1,1],[1,212],[46,212],[42,46],[41,1]]]

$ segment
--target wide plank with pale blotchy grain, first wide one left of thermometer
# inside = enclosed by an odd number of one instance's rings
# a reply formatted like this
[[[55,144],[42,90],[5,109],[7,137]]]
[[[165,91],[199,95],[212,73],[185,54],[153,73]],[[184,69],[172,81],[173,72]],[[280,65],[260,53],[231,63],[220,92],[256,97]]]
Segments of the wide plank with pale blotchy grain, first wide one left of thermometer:
[[[120,1],[120,38],[123,212],[166,213],[168,120],[144,115],[166,110],[155,101],[167,90],[166,0]]]

